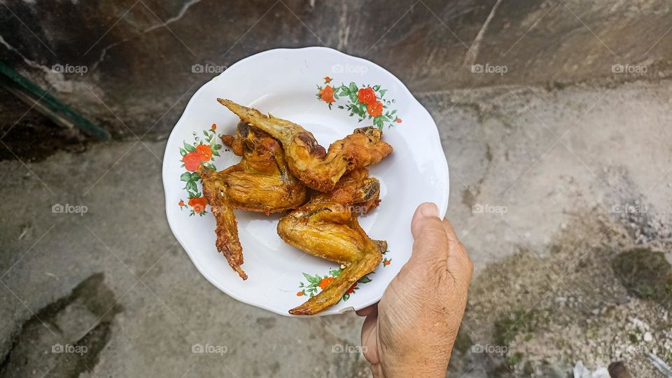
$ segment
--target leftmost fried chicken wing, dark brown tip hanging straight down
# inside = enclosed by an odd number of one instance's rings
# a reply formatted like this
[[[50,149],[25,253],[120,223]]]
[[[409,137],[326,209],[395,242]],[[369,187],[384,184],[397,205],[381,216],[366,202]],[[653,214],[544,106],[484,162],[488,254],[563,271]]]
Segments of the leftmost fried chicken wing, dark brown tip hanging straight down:
[[[280,144],[265,132],[241,122],[235,136],[222,140],[243,157],[241,162],[220,172],[201,166],[198,174],[217,222],[217,251],[247,279],[233,209],[266,215],[295,209],[306,201],[307,189],[290,173]]]

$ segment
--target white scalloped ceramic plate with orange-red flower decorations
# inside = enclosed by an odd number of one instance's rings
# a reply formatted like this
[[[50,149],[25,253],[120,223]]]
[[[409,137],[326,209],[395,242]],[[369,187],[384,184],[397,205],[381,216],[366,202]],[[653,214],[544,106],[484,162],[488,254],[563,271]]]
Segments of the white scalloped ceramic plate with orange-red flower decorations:
[[[353,90],[365,85],[374,87],[377,101],[386,104],[385,113],[358,123],[356,114],[350,116],[348,110],[339,108],[352,102],[349,95],[339,95],[344,92],[342,84],[348,87],[346,91],[351,86]],[[318,86],[326,85],[336,88],[339,97],[331,109],[318,96]],[[330,100],[328,90],[323,94]],[[216,145],[221,145],[219,135],[233,134],[238,122],[233,113],[218,104],[217,97],[302,125],[325,147],[351,134],[356,127],[374,124],[374,120],[383,127],[383,138],[394,152],[370,167],[371,176],[381,182],[382,202],[371,214],[361,217],[360,223],[372,239],[388,241],[388,252],[384,262],[367,276],[370,281],[358,283],[346,300],[344,297],[321,315],[361,309],[377,302],[410,256],[410,221],[415,208],[422,202],[435,202],[444,216],[448,206],[448,165],[429,113],[385,69],[329,48],[261,52],[233,64],[194,94],[170,134],[163,162],[170,228],[211,283],[241,302],[285,316],[290,316],[288,310],[307,300],[311,292],[318,293],[319,279],[330,276],[330,271],[338,267],[285,244],[276,233],[279,214],[235,211],[247,281],[241,280],[217,252],[215,219],[209,209],[206,214],[199,214],[201,186],[193,172],[188,171],[198,157],[218,170],[240,160],[225,148],[216,150]],[[358,104],[357,97],[353,99]],[[393,111],[396,112],[391,116],[384,116]],[[375,109],[372,112],[376,114]],[[216,130],[212,130],[213,124]],[[200,144],[203,146],[190,154]],[[208,149],[220,156],[210,158]],[[196,199],[190,201],[190,197]],[[299,292],[305,294],[297,295]]]

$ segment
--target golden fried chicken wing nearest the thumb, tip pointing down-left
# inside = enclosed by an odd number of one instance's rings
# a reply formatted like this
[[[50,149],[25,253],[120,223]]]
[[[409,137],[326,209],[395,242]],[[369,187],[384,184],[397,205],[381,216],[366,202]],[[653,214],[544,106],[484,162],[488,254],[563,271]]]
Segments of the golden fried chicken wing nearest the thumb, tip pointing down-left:
[[[290,314],[312,315],[331,307],[378,266],[387,243],[370,239],[357,217],[378,206],[379,194],[379,181],[368,177],[366,169],[356,169],[331,192],[314,194],[303,207],[280,219],[278,234],[288,244],[346,266],[321,293],[290,309]]]

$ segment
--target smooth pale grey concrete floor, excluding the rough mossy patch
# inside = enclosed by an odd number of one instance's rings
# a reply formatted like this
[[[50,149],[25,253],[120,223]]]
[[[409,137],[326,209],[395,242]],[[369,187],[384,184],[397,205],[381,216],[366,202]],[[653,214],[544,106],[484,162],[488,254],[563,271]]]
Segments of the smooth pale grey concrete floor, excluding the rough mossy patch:
[[[440,128],[451,169],[448,216],[475,261],[476,285],[521,248],[549,255],[554,235],[596,206],[637,200],[657,214],[672,209],[667,81],[416,96]],[[360,353],[333,351],[358,345],[356,315],[275,316],[197,272],[165,219],[164,144],[97,144],[43,162],[0,162],[2,373],[368,376]],[[54,204],[87,212],[55,214]],[[617,210],[608,216],[619,222]],[[50,353],[57,343],[87,353]],[[193,353],[198,344],[214,353]]]

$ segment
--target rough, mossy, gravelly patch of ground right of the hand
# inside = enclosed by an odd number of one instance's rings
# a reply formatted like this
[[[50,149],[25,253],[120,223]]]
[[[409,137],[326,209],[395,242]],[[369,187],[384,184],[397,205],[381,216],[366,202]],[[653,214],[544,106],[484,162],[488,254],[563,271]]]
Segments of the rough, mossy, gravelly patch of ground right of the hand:
[[[650,211],[622,214],[580,211],[547,251],[519,246],[479,274],[450,369],[568,377],[578,360],[591,370],[623,361],[633,377],[660,376],[647,353],[672,362],[668,230]]]

